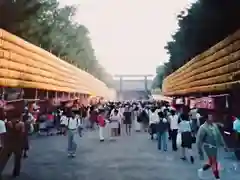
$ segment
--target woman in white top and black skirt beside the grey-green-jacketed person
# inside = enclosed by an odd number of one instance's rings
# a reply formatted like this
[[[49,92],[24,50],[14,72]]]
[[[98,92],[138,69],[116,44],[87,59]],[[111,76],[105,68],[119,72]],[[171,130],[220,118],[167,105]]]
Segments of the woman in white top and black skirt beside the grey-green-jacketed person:
[[[186,160],[186,149],[188,151],[188,154],[190,155],[190,161],[191,163],[194,163],[193,153],[192,153],[192,128],[191,128],[191,122],[188,117],[188,115],[182,114],[181,115],[181,122],[179,123],[178,132],[181,133],[181,139],[182,139],[182,160]]]

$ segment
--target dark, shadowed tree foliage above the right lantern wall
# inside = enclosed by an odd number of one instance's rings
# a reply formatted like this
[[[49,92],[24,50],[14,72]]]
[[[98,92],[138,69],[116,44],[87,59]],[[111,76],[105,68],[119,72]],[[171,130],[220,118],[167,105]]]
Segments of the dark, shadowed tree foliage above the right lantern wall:
[[[157,72],[156,78],[166,77],[239,29],[239,9],[239,0],[198,0],[186,13],[180,12],[179,28],[165,47],[169,61],[164,64],[164,72]],[[159,86],[162,80],[159,79]]]

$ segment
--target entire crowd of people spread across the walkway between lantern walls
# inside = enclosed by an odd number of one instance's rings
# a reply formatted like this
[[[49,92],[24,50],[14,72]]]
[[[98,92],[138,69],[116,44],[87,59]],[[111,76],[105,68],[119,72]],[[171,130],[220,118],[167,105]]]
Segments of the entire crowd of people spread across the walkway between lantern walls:
[[[167,102],[126,101],[106,102],[88,107],[62,105],[53,111],[30,112],[26,107],[22,114],[13,114],[10,119],[0,117],[0,174],[12,154],[14,158],[13,176],[20,174],[21,160],[28,157],[29,134],[66,135],[68,156],[76,156],[76,137],[82,136],[83,129],[98,131],[100,142],[106,138],[106,129],[110,130],[110,140],[131,136],[132,132],[148,132],[151,140],[157,141],[157,148],[168,151],[171,141],[172,151],[181,150],[181,159],[194,163],[193,144],[203,159],[204,152],[208,162],[198,171],[199,177],[209,168],[216,179],[220,179],[218,170],[218,149],[227,146],[219,127],[214,123],[211,113],[200,114],[196,108],[176,108]],[[234,121],[235,129],[240,120]],[[147,133],[146,133],[147,134]]]

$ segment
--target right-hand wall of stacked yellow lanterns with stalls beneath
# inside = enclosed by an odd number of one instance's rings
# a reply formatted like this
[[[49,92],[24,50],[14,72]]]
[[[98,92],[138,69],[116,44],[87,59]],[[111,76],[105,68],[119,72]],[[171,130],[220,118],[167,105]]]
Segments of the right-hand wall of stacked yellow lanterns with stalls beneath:
[[[239,90],[240,30],[170,74],[162,88],[165,96],[188,98],[190,107],[213,114],[229,146],[236,144],[231,117],[240,117]]]

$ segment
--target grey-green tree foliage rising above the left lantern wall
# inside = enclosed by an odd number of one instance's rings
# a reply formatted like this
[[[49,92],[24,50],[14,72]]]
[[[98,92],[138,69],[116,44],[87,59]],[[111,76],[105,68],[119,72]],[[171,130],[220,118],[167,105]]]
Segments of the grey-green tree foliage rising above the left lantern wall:
[[[57,0],[1,0],[0,28],[52,52],[112,86],[112,77],[99,64],[88,29],[74,22],[75,6]]]

